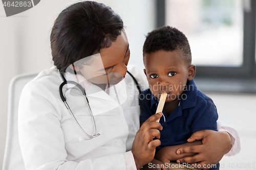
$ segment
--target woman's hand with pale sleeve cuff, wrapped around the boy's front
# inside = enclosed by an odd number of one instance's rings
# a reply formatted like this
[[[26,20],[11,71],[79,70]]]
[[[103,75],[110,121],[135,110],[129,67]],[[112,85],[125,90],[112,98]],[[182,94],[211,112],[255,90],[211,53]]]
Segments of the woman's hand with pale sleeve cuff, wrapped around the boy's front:
[[[177,154],[183,153],[200,153],[197,156],[190,156],[179,159],[177,162],[194,163],[201,162],[203,164],[216,164],[224,155],[236,155],[240,151],[240,138],[236,130],[221,121],[217,121],[218,131],[202,130],[193,133],[188,142],[202,140],[202,145],[182,147],[177,150]],[[218,151],[218,152],[216,152]]]

